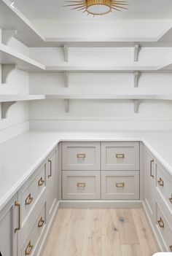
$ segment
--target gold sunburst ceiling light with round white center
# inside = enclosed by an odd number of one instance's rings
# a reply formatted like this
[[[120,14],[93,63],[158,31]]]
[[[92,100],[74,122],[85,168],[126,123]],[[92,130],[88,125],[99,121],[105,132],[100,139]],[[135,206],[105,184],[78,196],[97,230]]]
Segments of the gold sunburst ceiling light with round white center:
[[[128,9],[125,7],[128,5],[127,1],[121,0],[77,0],[66,2],[70,4],[67,4],[65,7],[87,12],[88,15],[106,15],[113,10]]]

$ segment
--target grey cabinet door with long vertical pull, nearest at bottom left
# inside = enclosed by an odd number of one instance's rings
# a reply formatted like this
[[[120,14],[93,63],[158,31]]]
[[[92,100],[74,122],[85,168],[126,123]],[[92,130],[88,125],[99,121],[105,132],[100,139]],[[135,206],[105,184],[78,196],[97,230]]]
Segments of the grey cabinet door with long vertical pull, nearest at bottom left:
[[[15,228],[18,228],[20,223],[17,222],[16,200],[17,195],[0,212],[0,255],[2,256],[17,256],[17,230]]]

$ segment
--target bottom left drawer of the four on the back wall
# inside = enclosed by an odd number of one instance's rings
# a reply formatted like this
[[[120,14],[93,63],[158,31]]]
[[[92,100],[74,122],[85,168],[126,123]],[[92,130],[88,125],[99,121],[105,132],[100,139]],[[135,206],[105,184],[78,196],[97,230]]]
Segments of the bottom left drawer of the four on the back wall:
[[[100,171],[63,171],[63,199],[100,199]]]

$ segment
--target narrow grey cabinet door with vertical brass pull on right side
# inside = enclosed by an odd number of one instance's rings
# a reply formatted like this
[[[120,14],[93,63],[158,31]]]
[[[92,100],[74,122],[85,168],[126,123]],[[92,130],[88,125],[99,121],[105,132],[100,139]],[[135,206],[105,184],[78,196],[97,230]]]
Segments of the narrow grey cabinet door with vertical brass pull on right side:
[[[148,150],[144,151],[144,198],[146,210],[151,220],[155,215],[155,164]]]

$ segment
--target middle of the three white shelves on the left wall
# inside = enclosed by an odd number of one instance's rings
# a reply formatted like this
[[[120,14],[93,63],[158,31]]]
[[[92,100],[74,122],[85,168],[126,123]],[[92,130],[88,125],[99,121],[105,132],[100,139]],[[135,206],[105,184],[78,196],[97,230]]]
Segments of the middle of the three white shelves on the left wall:
[[[15,64],[17,69],[24,71],[40,71],[45,69],[41,63],[28,58],[28,56],[22,53],[18,53],[5,44],[0,44],[0,63]]]

